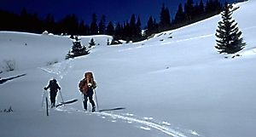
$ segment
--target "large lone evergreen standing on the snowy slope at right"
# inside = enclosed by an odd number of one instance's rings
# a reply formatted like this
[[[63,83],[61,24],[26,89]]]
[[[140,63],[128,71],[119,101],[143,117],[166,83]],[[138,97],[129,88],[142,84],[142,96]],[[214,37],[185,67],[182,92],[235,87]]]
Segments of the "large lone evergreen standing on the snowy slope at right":
[[[243,43],[241,37],[241,31],[237,27],[235,20],[232,20],[232,5],[225,3],[225,7],[222,15],[222,20],[218,22],[218,29],[216,30],[216,42],[218,52],[220,54],[235,54],[236,52],[243,49],[246,43]]]

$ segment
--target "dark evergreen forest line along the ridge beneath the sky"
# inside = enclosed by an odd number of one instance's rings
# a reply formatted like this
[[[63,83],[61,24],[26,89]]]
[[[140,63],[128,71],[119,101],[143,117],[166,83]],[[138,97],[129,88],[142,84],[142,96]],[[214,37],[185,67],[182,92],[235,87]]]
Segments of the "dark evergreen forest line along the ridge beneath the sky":
[[[49,31],[56,35],[98,35],[107,34],[114,39],[125,41],[141,41],[148,36],[160,32],[186,26],[198,20],[219,14],[222,5],[218,0],[208,0],[206,4],[200,1],[195,3],[187,0],[184,5],[178,5],[177,13],[172,18],[169,9],[163,3],[160,10],[160,21],[157,22],[152,16],[149,17],[147,25],[143,28],[140,17],[131,15],[130,20],[124,23],[113,24],[112,21],[106,22],[106,16],[102,15],[101,20],[97,20],[96,14],[92,14],[90,25],[84,24],[84,20],[78,19],[75,14],[67,14],[64,19],[55,21],[53,15],[48,14],[45,19],[39,19],[38,14],[28,14],[26,9],[22,9],[20,14],[10,13],[0,10],[1,26],[0,31],[26,31],[32,33],[42,33]]]

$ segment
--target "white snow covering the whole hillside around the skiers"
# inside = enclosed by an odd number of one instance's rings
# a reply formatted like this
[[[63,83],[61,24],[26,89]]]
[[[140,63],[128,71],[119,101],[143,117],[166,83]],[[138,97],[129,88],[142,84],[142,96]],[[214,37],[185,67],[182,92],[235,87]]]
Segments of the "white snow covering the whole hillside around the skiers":
[[[214,49],[220,15],[139,43],[107,46],[112,37],[80,37],[96,46],[74,60],[64,60],[69,37],[0,31],[0,77],[26,74],[0,85],[0,136],[254,136],[256,2],[236,6],[247,46],[234,59]],[[13,60],[15,71],[5,71],[4,60]],[[100,110],[125,109],[84,111],[78,83],[85,71],[94,72]],[[52,77],[64,100],[79,101],[47,117],[43,88]],[[9,106],[13,111],[3,112]]]

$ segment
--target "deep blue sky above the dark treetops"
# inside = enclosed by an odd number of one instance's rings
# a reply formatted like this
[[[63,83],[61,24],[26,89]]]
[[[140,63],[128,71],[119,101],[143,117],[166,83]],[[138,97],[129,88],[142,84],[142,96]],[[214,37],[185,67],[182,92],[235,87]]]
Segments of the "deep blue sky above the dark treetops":
[[[26,8],[28,13],[37,13],[40,18],[47,14],[53,14],[55,20],[64,18],[67,14],[76,14],[79,20],[86,24],[91,22],[91,14],[96,13],[97,19],[106,15],[107,22],[120,22],[131,19],[131,14],[140,16],[143,26],[147,23],[150,15],[156,20],[160,19],[162,3],[170,10],[171,17],[177,11],[178,3],[187,0],[3,0],[0,9],[9,10],[20,14],[21,9]],[[194,0],[199,2],[199,0]],[[234,2],[236,0],[227,0]]]

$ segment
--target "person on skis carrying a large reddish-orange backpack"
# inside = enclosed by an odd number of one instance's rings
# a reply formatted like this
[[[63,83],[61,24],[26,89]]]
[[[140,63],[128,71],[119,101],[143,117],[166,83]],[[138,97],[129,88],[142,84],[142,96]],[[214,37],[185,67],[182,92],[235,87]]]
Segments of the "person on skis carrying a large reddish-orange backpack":
[[[93,96],[93,89],[96,88],[96,82],[94,81],[93,78],[93,74],[92,72],[85,72],[84,73],[84,79],[82,79],[79,82],[79,90],[82,92],[82,94],[84,95],[84,100],[83,100],[83,104],[84,104],[84,110],[87,110],[87,101],[88,98],[90,100],[90,104],[92,106],[92,112],[96,111],[96,105],[95,102],[92,98]]]

